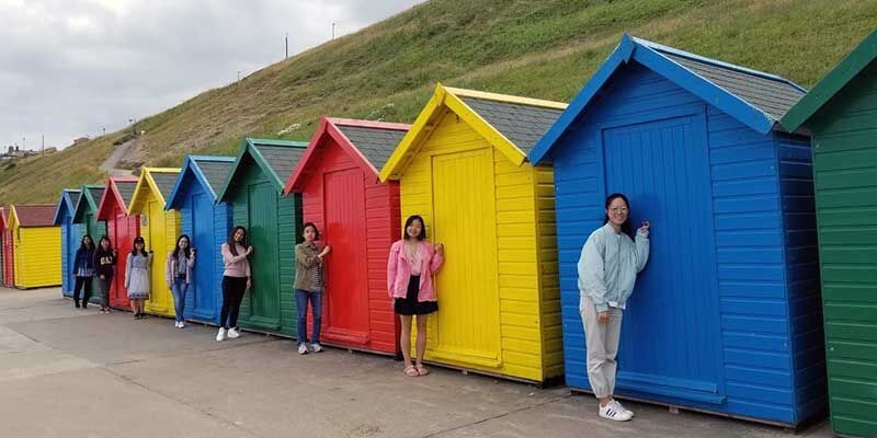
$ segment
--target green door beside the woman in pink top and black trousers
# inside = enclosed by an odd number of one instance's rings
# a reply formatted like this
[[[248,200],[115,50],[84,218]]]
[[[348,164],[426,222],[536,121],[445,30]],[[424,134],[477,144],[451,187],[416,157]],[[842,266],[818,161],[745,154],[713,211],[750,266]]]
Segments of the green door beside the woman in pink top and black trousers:
[[[274,332],[281,327],[277,191],[264,182],[250,185],[247,195],[253,284],[244,297],[249,304],[246,325]]]

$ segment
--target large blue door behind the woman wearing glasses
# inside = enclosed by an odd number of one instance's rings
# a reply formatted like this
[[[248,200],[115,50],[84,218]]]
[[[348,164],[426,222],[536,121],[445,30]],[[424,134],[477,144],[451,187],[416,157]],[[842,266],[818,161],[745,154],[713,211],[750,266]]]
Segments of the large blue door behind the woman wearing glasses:
[[[706,123],[691,114],[602,130],[606,194],[652,224],[651,256],[622,324],[622,391],[724,402]]]

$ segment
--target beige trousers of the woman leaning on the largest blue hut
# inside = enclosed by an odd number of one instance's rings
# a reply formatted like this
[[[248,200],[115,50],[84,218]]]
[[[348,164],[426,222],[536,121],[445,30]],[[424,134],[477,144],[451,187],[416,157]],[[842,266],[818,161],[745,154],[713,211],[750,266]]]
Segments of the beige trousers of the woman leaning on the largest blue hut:
[[[596,319],[596,307],[591,297],[584,297],[579,313],[584,323],[584,343],[588,347],[588,380],[597,399],[612,396],[615,392],[615,371],[618,339],[622,335],[623,310],[610,308],[610,321]]]

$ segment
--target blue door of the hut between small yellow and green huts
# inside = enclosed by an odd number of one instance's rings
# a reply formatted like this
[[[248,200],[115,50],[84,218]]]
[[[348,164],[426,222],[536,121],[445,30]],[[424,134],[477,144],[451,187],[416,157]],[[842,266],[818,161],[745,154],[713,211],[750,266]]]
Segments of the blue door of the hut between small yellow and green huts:
[[[214,321],[216,314],[216,293],[220,285],[214,284],[214,215],[213,201],[204,191],[195,191],[190,195],[190,218],[192,220],[192,242],[195,245],[195,270],[189,293],[192,293],[192,318],[202,321]]]

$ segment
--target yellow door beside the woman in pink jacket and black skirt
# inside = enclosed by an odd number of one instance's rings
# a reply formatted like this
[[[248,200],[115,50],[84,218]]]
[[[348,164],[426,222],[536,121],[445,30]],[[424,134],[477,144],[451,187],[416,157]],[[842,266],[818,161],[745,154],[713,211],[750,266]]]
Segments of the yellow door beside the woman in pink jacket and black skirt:
[[[432,157],[433,239],[445,245],[428,357],[499,367],[493,148]]]

